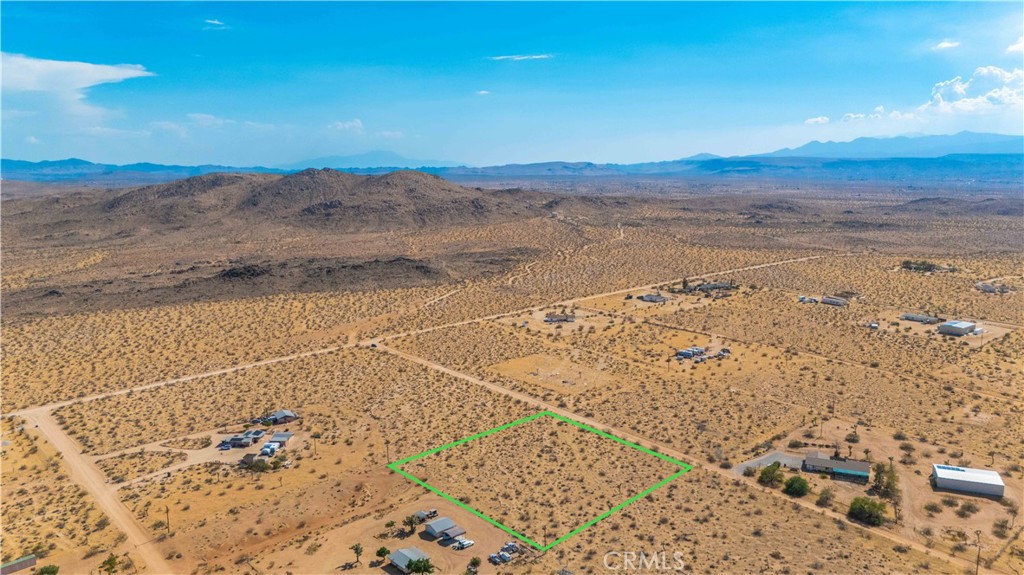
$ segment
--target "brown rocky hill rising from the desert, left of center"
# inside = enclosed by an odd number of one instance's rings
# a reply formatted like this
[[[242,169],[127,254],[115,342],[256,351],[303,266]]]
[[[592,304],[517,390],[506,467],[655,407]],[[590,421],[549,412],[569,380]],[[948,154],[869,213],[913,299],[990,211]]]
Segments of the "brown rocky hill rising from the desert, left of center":
[[[203,226],[229,219],[381,231],[545,215],[550,201],[534,192],[463,187],[414,171],[359,176],[309,169],[287,176],[196,176],[123,191],[93,208],[144,226]],[[80,214],[90,211],[85,207]]]

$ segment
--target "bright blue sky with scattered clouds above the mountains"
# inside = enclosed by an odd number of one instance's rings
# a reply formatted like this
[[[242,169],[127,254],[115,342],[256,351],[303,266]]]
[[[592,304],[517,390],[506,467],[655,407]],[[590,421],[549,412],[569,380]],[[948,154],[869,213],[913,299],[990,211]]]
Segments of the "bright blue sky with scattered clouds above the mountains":
[[[643,162],[1020,134],[1024,3],[3,2],[4,158]]]

